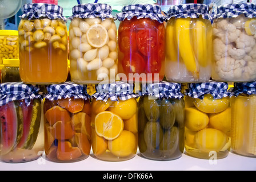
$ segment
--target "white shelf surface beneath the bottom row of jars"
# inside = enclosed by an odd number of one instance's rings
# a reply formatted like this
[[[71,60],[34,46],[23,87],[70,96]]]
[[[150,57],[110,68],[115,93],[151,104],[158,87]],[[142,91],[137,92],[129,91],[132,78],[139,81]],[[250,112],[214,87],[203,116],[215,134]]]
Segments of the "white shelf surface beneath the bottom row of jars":
[[[55,163],[42,155],[27,163],[0,162],[0,171],[256,171],[256,158],[233,154],[215,160],[198,159],[183,154],[181,158],[157,161],[143,158],[139,152],[134,158],[122,162],[106,162],[91,154],[88,158],[73,163]]]

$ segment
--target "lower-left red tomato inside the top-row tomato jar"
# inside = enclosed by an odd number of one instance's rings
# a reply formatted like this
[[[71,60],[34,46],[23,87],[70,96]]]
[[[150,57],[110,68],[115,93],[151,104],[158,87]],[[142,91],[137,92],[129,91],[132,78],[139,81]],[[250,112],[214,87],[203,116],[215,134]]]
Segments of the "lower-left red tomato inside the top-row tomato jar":
[[[123,71],[127,73],[138,73],[145,72],[145,60],[139,53],[133,52],[129,56],[125,56],[122,62]]]

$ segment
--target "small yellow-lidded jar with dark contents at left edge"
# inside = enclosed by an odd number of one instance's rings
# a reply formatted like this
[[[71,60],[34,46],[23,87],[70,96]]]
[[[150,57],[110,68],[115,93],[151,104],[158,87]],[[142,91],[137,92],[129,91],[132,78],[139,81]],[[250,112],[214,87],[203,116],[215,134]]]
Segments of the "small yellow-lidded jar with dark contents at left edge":
[[[19,59],[4,59],[1,74],[2,82],[21,81],[21,76],[19,76]]]

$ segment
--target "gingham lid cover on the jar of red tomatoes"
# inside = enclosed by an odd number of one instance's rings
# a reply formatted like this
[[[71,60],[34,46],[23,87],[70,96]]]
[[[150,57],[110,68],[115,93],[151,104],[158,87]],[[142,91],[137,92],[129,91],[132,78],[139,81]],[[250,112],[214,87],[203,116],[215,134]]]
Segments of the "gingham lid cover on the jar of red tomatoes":
[[[135,4],[127,5],[122,8],[122,12],[116,14],[119,21],[123,21],[126,18],[130,20],[133,16],[137,18],[150,18],[157,20],[159,23],[165,21],[165,16],[162,15],[161,7],[152,4]]]

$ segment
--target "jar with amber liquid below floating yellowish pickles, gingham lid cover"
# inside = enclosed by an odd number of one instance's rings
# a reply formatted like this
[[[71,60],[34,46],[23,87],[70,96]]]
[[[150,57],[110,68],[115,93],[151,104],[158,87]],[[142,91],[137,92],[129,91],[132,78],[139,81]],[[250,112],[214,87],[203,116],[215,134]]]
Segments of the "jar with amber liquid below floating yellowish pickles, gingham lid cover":
[[[21,80],[30,84],[65,82],[67,27],[62,7],[31,3],[22,10],[18,27]]]

